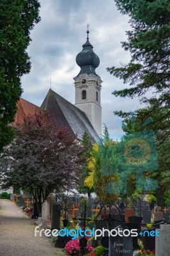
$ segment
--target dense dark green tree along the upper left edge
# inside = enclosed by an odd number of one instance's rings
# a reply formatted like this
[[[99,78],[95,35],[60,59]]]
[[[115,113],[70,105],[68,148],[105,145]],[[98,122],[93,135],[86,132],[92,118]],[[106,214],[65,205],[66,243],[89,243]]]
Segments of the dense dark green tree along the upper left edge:
[[[13,138],[8,126],[16,113],[22,93],[20,77],[29,73],[26,52],[29,33],[40,21],[38,0],[1,0],[0,2],[0,150]]]

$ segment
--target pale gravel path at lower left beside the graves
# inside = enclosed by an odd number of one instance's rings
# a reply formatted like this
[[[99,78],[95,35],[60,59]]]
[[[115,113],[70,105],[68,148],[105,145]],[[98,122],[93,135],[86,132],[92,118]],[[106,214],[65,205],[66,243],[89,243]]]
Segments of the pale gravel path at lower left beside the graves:
[[[35,237],[35,220],[9,200],[0,200],[0,256],[60,256],[50,239]]]

